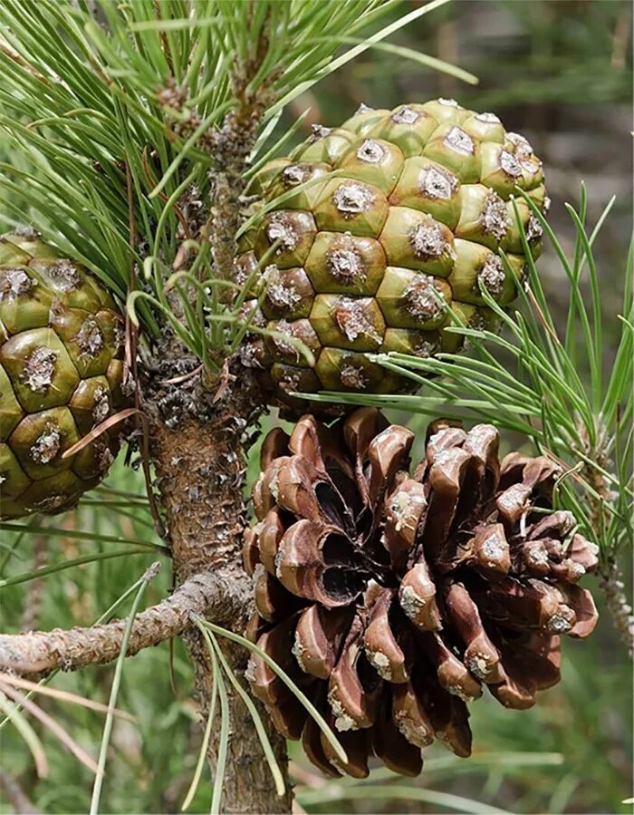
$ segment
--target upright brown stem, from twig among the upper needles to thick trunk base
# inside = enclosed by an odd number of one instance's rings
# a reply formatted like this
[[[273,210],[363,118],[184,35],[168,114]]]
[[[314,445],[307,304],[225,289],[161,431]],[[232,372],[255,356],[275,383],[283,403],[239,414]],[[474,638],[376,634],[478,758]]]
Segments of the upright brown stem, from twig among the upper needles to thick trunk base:
[[[252,13],[253,9],[247,11],[249,17]],[[268,24],[264,23],[253,53],[234,65],[234,109],[227,113],[220,131],[208,131],[207,139],[200,142],[214,156],[214,170],[210,174],[211,212],[201,235],[211,244],[216,274],[226,279],[233,272],[247,157],[255,143],[259,122],[272,100],[268,89],[274,73],[255,84],[255,88],[251,85],[267,52]],[[179,370],[185,360],[178,349],[169,351],[176,351],[173,359],[177,364],[168,375],[168,381],[175,383],[175,376],[186,373]],[[168,360],[161,359],[159,368],[165,363],[168,366]],[[213,572],[232,587],[244,587],[250,596],[251,581],[242,568],[240,555],[245,517],[242,436],[262,399],[246,381],[245,372],[234,375],[229,368],[229,361],[225,360],[221,374],[211,376],[206,372],[205,383],[215,392],[213,396],[191,379],[183,390],[168,388],[162,393],[160,383],[159,392],[154,391],[155,380],[143,389],[143,395],[151,427],[151,455],[159,477],[159,502],[165,514],[177,583],[198,573]],[[251,603],[246,602],[242,613],[236,614],[228,627],[244,630],[250,610]],[[195,628],[189,628],[183,638],[194,663],[196,694],[205,719],[213,678],[207,648]],[[248,656],[245,649],[226,640],[221,647],[227,662],[241,677]],[[290,812],[292,794],[288,779],[285,778],[286,792],[278,796],[245,705],[228,684],[227,691],[232,733],[223,781],[223,810]],[[283,739],[274,733],[268,716],[264,715],[263,721],[285,774]],[[216,741],[217,735],[211,739],[208,756],[212,768]]]

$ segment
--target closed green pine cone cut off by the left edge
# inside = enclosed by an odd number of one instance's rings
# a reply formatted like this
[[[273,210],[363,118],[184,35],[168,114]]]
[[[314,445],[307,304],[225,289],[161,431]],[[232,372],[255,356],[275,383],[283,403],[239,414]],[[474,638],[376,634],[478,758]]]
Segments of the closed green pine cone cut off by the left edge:
[[[0,519],[69,509],[119,450],[123,320],[104,286],[33,229],[0,238]]]

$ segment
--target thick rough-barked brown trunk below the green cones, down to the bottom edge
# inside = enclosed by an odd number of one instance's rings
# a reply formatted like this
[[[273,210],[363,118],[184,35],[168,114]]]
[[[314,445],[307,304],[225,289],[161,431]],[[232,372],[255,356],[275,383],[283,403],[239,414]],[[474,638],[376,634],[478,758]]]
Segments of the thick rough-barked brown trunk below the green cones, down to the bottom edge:
[[[152,456],[159,477],[160,503],[165,511],[177,583],[197,573],[212,572],[251,597],[250,579],[240,557],[245,506],[243,500],[244,456],[242,434],[245,418],[253,410],[248,390],[235,383],[226,400],[210,406],[204,419],[187,414],[170,429],[155,416],[152,422]],[[175,425],[175,426],[174,426]],[[241,632],[251,610],[247,600],[227,627]],[[195,695],[207,718],[212,672],[206,646],[195,629],[184,636],[195,668]],[[226,658],[238,677],[245,670],[247,653],[239,645],[222,641]],[[291,792],[277,795],[274,781],[245,704],[227,685],[231,716],[229,757],[223,783],[223,811],[289,812]],[[285,744],[263,715],[274,752],[285,767]],[[215,765],[216,735],[209,761]]]

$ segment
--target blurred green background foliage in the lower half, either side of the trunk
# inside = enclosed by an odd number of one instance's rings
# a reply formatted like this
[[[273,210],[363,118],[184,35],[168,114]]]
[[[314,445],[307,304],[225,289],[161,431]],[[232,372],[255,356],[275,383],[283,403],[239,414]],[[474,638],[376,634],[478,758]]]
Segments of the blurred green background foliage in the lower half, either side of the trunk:
[[[417,421],[416,416],[413,421]],[[251,479],[257,472],[256,452],[254,449],[250,464]],[[52,529],[83,534],[82,538],[45,537],[47,564],[61,564],[78,553],[93,555],[117,547],[116,543],[101,541],[101,535],[120,538],[121,548],[139,540],[159,543],[151,529],[143,490],[141,474],[118,461],[110,479],[84,499],[80,509],[67,513],[62,522],[43,521],[43,536],[47,536],[47,525],[52,524]],[[94,540],[90,537],[92,529],[97,536]],[[11,548],[16,538],[17,532],[6,532],[3,543]],[[3,577],[28,572],[33,548],[33,537],[18,540],[13,556],[5,563]],[[5,557],[6,551],[3,548],[0,557]],[[23,611],[36,595],[43,606],[35,625],[44,630],[90,625],[100,616],[125,617],[130,614],[141,576],[155,559],[156,553],[147,550],[147,554],[135,558],[97,560],[80,568],[53,572],[40,581],[36,590],[36,584],[29,582],[5,587],[0,590],[3,627],[19,629]],[[166,597],[169,583],[165,563],[146,588],[143,605],[153,605]],[[118,606],[109,607],[122,595],[126,598]],[[300,803],[307,812],[314,813],[356,812],[364,807],[403,812],[408,806],[409,811],[416,812],[482,815],[492,808],[553,815],[564,811],[626,812],[627,807],[620,801],[629,794],[631,671],[618,648],[610,620],[602,615],[595,636],[581,646],[568,644],[563,655],[562,683],[543,692],[532,710],[508,711],[494,700],[483,698],[473,706],[476,742],[472,758],[457,759],[435,746],[428,751],[423,774],[415,781],[405,781],[385,770],[372,771],[367,781],[325,780],[309,769],[301,748],[292,743],[293,761],[300,768]],[[192,676],[182,645],[174,644],[176,692],[170,686],[169,659],[165,643],[127,660],[123,666],[117,706],[132,713],[134,721],[114,720],[100,811],[178,811],[187,798],[196,776],[203,733],[194,705],[187,698]],[[73,674],[59,673],[49,685],[107,703],[115,670],[115,665],[104,665]],[[230,682],[226,673],[224,677],[225,682]],[[34,699],[97,758],[103,733],[102,713],[42,697]],[[218,713],[219,701],[216,728]],[[91,771],[49,733],[42,732],[37,723],[33,726],[50,765],[48,777],[37,779],[22,736],[11,723],[0,724],[3,769],[21,778],[42,811],[88,812]],[[205,763],[200,772],[187,808],[190,813],[209,811],[211,803]],[[406,791],[411,792],[407,795]],[[408,800],[416,803],[408,804]],[[8,815],[10,811],[0,799],[0,812]]]

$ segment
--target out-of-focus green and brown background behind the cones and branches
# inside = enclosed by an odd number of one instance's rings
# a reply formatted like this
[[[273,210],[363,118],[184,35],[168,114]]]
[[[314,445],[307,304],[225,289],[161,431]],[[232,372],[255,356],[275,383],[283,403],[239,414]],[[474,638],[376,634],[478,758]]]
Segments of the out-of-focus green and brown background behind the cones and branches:
[[[314,0],[325,2],[325,0]],[[394,14],[408,11],[399,6]],[[405,7],[404,7],[405,6]],[[596,244],[605,296],[605,354],[614,353],[632,208],[632,5],[629,0],[455,0],[419,19],[390,39],[437,56],[479,77],[471,86],[425,70],[394,53],[370,50],[293,103],[288,121],[307,107],[311,123],[338,125],[360,102],[395,107],[437,96],[454,97],[479,112],[495,111],[507,130],[532,142],[543,159],[552,198],[550,220],[563,247],[574,229],[563,202],[576,205],[581,180],[588,189],[589,221],[598,218],[612,195],[616,204]],[[345,33],[342,33],[345,34]],[[306,135],[301,134],[302,138]],[[547,248],[540,259],[544,288],[557,321],[567,306],[567,283]],[[610,330],[610,328],[612,330]],[[399,421],[407,417],[399,416]],[[274,418],[269,422],[274,422]],[[516,440],[506,440],[507,444]],[[250,480],[256,471],[252,451]],[[4,630],[89,625],[142,574],[149,549],[133,551],[131,541],[155,541],[138,471],[121,460],[108,486],[62,519],[35,520],[29,534],[3,532],[1,577],[9,581],[34,568],[50,568],[35,580],[5,586]],[[138,496],[130,507],[129,496]],[[53,535],[52,526],[57,530]],[[61,527],[65,533],[60,534]],[[72,558],[97,551],[130,555],[78,566]],[[146,554],[148,553],[148,554]],[[631,553],[626,552],[626,579]],[[165,597],[168,563],[149,587],[148,604]],[[630,585],[630,584],[629,584]],[[599,597],[600,601],[600,597]],[[123,609],[129,606],[122,606]],[[119,707],[136,717],[115,723],[103,812],[175,812],[186,794],[197,762],[200,733],[189,701],[187,657],[174,648],[173,686],[169,648],[143,652],[125,665]],[[53,687],[107,702],[113,667],[59,675]],[[474,757],[456,759],[430,749],[426,769],[416,781],[373,773],[358,785],[324,782],[292,746],[298,812],[627,812],[631,791],[632,665],[607,616],[589,640],[564,643],[563,680],[543,692],[530,711],[514,712],[484,697],[473,705]],[[101,714],[56,700],[39,700],[43,710],[88,752],[101,741]],[[34,811],[85,812],[90,805],[91,773],[38,723],[50,764],[38,779],[24,742],[11,726],[0,731],[4,773],[18,778]],[[370,786],[372,791],[370,791]],[[0,811],[20,810],[7,789]],[[438,798],[453,795],[455,800]],[[208,811],[207,782],[189,811]],[[441,801],[443,801],[441,803]]]

